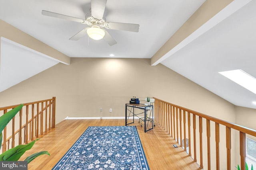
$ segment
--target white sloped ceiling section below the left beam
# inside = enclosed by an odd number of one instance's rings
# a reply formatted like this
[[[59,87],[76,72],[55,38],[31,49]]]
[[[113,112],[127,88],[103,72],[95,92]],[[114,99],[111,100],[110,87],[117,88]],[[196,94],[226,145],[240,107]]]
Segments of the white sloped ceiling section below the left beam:
[[[0,92],[59,63],[3,37],[0,44]]]

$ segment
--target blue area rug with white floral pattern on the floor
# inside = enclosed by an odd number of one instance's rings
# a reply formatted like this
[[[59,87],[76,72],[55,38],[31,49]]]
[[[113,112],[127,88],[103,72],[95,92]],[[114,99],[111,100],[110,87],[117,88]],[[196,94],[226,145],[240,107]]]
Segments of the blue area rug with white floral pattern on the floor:
[[[53,170],[149,170],[136,126],[88,127]]]

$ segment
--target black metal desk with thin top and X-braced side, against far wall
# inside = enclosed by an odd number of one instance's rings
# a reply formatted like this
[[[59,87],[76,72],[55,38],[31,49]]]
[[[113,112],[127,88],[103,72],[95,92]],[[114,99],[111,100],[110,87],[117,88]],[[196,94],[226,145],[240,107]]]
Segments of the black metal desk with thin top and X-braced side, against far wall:
[[[134,116],[140,121],[144,121],[145,132],[154,127],[154,106],[144,104],[125,104],[125,125],[134,123]],[[143,115],[142,117],[139,115]],[[151,119],[149,119],[150,117]],[[152,124],[152,127],[151,127]]]

